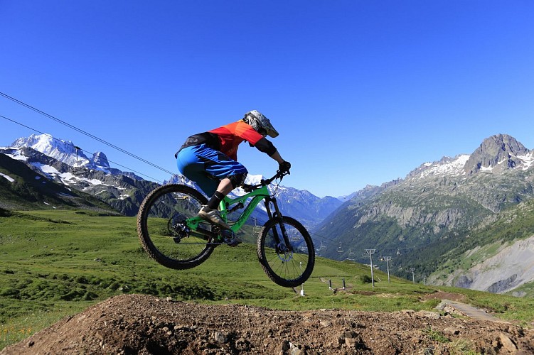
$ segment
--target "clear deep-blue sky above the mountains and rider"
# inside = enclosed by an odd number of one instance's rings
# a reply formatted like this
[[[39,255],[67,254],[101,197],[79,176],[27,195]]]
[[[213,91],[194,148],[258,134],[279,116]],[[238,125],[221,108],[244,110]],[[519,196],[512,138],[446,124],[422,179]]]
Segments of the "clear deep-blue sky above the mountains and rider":
[[[340,196],[493,134],[534,148],[534,1],[0,0],[0,92],[176,171],[192,133],[262,111],[283,185]],[[0,115],[169,174],[0,97]],[[31,130],[0,118],[0,146]],[[271,160],[246,143],[252,174]]]

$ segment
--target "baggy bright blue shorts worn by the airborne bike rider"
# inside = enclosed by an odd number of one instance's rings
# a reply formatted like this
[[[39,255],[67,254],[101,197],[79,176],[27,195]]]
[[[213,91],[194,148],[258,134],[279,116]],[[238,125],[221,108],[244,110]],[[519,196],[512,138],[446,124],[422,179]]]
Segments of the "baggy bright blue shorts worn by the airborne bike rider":
[[[215,193],[220,180],[248,173],[241,163],[205,144],[183,148],[176,156],[176,164],[180,173],[196,182],[208,197]]]

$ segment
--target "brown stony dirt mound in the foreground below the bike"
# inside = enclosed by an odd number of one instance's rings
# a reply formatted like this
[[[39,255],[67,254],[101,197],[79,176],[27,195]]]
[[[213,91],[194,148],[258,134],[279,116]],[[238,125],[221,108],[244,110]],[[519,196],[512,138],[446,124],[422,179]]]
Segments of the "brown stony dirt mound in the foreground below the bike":
[[[290,312],[112,297],[6,354],[534,354],[534,332],[437,312]]]

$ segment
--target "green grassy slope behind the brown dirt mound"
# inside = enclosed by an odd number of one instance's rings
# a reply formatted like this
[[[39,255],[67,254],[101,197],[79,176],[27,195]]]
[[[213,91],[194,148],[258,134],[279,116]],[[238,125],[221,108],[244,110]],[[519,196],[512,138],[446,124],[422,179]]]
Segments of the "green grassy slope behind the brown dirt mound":
[[[432,310],[439,302],[421,301],[437,288],[394,277],[388,283],[380,271],[373,288],[368,266],[324,258],[317,259],[301,297],[301,288],[280,288],[267,278],[255,244],[219,246],[201,266],[174,271],[146,256],[135,225],[133,217],[81,210],[0,214],[0,349],[123,293],[284,310]],[[454,292],[505,319],[526,323],[534,317],[531,299]]]

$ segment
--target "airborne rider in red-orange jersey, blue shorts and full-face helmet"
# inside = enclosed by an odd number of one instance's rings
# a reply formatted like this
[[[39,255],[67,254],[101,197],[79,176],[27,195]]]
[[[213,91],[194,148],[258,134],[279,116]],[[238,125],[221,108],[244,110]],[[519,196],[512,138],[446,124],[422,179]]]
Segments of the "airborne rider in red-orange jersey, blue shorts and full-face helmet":
[[[243,141],[276,160],[281,172],[289,173],[291,164],[280,156],[266,136],[275,138],[278,132],[267,117],[252,110],[239,121],[186,139],[174,155],[178,170],[211,196],[208,204],[198,212],[199,217],[223,229],[230,229],[217,208],[223,198],[239,187],[247,176],[247,168],[237,162],[237,148]]]

